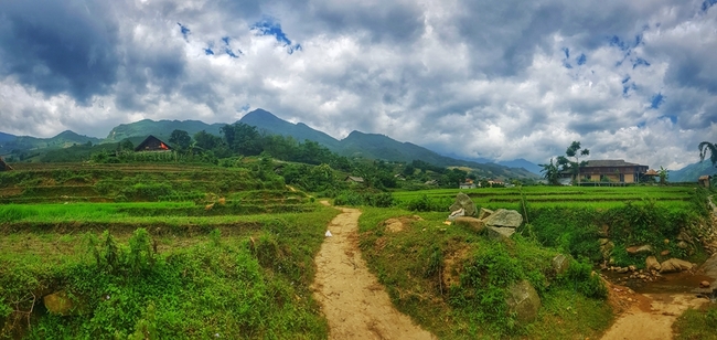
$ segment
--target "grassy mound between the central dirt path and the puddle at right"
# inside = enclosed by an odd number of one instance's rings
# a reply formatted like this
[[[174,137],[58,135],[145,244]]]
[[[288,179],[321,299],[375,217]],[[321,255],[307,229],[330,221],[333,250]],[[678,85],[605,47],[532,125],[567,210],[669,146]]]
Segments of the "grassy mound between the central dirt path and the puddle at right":
[[[516,235],[509,244],[442,224],[443,213],[365,208],[360,220],[361,248],[371,269],[399,310],[445,339],[575,339],[600,334],[612,320],[607,294],[589,264],[572,261],[556,275],[558,254]],[[390,232],[383,221],[404,217]],[[527,279],[543,308],[521,325],[505,304],[506,288]],[[559,323],[559,329],[555,325]]]

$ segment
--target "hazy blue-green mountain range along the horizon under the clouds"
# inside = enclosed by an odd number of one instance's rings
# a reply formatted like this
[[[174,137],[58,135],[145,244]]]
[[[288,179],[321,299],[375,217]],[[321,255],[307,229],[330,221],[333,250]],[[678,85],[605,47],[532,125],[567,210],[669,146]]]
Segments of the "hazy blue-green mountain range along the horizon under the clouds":
[[[269,135],[291,136],[298,141],[312,140],[323,145],[333,152],[349,158],[383,159],[389,161],[410,162],[415,159],[426,161],[439,167],[468,167],[479,176],[486,178],[538,178],[541,167],[525,159],[494,162],[485,158],[467,158],[454,153],[440,155],[411,142],[400,142],[384,135],[352,131],[344,139],[335,139],[330,135],[315,130],[303,123],[292,124],[274,114],[255,109],[246,114],[239,123],[255,126],[259,131]],[[42,150],[66,148],[75,144],[109,144],[130,139],[132,142],[153,135],[160,139],[169,139],[175,129],[194,135],[205,130],[220,135],[224,124],[206,124],[200,120],[151,120],[143,119],[130,124],[121,124],[113,128],[107,138],[99,139],[77,135],[73,131],[63,131],[52,138],[35,138],[29,136],[13,136],[0,132],[0,156],[9,155],[13,150]],[[689,164],[681,170],[671,171],[670,180],[693,181],[699,174],[714,174],[717,168],[709,162]]]

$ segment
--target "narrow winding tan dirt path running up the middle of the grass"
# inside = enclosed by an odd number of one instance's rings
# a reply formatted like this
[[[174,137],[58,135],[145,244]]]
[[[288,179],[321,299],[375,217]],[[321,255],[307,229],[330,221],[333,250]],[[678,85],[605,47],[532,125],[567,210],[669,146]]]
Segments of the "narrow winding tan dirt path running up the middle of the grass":
[[[324,202],[322,202],[324,203]],[[328,203],[324,203],[324,205]],[[358,251],[361,211],[341,209],[315,258],[313,295],[329,320],[330,339],[435,339],[398,312]]]

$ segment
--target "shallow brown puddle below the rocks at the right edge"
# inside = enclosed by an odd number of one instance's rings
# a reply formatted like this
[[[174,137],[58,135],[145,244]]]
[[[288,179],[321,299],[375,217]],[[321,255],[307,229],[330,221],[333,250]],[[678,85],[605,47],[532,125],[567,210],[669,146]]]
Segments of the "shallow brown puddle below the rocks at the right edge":
[[[640,294],[694,294],[694,289],[699,288],[699,283],[711,283],[711,277],[704,274],[693,274],[689,272],[662,274],[661,277],[653,277],[652,281],[644,281],[639,278],[629,278],[630,274],[618,274],[616,272],[601,272],[604,277],[614,284],[630,287],[630,289]]]

